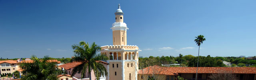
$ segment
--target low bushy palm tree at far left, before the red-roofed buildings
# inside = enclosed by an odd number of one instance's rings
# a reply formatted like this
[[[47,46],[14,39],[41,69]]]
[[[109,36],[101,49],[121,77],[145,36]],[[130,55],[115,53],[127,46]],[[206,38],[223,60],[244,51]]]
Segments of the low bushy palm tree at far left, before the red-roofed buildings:
[[[20,63],[20,67],[24,69],[21,80],[57,80],[57,75],[63,72],[58,68],[57,62],[48,61],[48,56],[39,59],[32,55],[31,60],[33,62]]]

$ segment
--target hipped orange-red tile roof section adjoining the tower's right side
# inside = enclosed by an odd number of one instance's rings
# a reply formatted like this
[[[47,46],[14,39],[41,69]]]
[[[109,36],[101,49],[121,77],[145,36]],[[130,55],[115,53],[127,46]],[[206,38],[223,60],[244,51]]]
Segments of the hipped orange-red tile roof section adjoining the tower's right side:
[[[167,70],[157,65],[149,66],[147,68],[139,70],[138,74],[160,74],[160,75],[170,75],[170,76],[178,75],[178,73],[176,72],[172,72],[170,70]]]

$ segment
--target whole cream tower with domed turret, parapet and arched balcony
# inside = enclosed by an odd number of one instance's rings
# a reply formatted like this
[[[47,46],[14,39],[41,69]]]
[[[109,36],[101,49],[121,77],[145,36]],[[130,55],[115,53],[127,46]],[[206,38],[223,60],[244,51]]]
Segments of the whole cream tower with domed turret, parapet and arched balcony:
[[[127,45],[127,28],[124,13],[118,5],[115,12],[116,22],[112,24],[113,45],[101,46],[101,54],[108,56],[108,80],[137,80],[138,46]]]

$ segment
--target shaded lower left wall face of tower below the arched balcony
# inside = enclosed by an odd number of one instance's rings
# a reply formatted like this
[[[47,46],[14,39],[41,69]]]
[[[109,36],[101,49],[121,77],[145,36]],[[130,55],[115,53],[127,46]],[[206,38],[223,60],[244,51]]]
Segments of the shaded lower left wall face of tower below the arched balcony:
[[[118,68],[116,64],[118,64]],[[109,80],[122,80],[122,62],[109,62]]]

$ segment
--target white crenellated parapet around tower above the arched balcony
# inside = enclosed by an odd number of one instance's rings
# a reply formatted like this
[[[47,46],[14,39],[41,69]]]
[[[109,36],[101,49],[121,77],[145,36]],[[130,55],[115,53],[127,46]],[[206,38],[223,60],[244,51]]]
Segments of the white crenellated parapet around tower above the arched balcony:
[[[138,46],[134,45],[110,45],[101,46],[101,50],[138,50]]]

